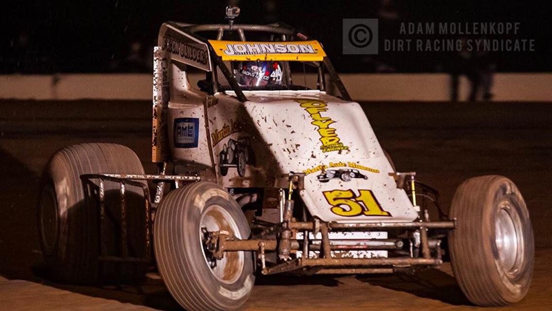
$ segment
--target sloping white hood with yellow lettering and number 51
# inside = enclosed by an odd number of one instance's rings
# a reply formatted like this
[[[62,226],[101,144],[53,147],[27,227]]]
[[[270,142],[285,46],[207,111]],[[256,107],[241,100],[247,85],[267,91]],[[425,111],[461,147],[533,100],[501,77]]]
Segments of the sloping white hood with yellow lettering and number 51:
[[[399,222],[417,212],[358,103],[323,92],[247,94],[254,125],[283,172],[304,172],[312,215],[336,222]]]

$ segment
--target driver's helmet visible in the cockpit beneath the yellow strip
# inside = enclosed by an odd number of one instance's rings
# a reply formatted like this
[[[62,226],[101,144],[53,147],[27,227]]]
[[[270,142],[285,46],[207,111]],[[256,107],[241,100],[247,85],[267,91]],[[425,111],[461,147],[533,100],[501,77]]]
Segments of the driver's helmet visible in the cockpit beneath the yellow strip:
[[[282,85],[282,67],[277,61],[245,61],[236,78],[242,86]]]

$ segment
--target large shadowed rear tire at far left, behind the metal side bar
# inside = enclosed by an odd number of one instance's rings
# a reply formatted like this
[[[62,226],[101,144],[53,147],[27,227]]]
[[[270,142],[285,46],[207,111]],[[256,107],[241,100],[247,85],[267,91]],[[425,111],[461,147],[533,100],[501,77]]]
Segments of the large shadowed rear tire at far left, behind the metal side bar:
[[[46,269],[57,281],[94,284],[132,282],[144,276],[145,265],[100,263],[97,180],[88,186],[81,175],[89,173],[138,173],[144,168],[128,147],[115,144],[79,144],[57,151],[46,166],[38,208],[39,240]],[[108,251],[120,249],[120,197],[118,183],[104,183],[108,216]],[[126,187],[128,206],[144,205],[139,187]],[[129,208],[129,251],[143,255],[145,247],[143,209]]]

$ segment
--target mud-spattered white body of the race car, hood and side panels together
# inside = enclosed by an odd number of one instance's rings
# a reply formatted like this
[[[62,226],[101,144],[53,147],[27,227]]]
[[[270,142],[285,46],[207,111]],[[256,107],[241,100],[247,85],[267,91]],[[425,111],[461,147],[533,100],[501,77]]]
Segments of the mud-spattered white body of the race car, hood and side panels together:
[[[233,92],[220,92],[209,107],[199,101],[199,92],[184,92],[185,102],[168,105],[175,161],[213,166],[214,160],[216,181],[224,187],[285,188],[289,172],[303,172],[301,198],[311,215],[327,222],[410,222],[418,217],[389,175],[391,165],[358,103],[321,91],[246,91],[244,103]],[[184,133],[197,147],[182,144],[186,138],[181,129],[187,124],[197,126]],[[236,152],[248,153],[243,176]],[[320,182],[317,176],[328,170],[346,176]]]

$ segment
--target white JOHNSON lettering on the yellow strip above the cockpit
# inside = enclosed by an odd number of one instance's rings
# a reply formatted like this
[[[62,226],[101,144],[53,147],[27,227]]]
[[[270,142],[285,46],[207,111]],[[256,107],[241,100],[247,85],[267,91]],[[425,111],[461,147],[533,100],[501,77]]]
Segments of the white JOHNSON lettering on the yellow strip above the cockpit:
[[[282,43],[234,43],[226,44],[224,54],[258,55],[258,54],[316,54],[310,44],[282,44]]]

